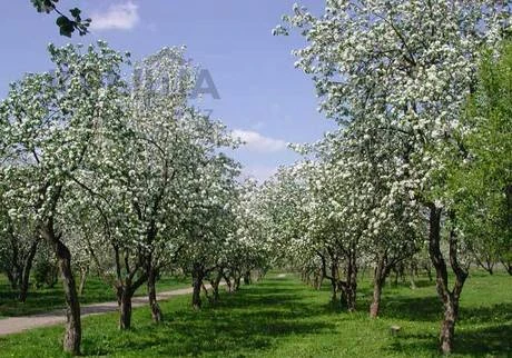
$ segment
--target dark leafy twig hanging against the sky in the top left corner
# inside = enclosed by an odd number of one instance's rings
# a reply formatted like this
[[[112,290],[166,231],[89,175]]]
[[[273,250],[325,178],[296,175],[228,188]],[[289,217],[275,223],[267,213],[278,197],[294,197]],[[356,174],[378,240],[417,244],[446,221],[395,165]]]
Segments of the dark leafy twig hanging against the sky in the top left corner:
[[[31,0],[31,2],[38,12],[50,13],[55,11],[59,14],[56,23],[59,27],[60,34],[71,37],[75,31],[78,31],[80,36],[89,32],[88,28],[91,19],[82,19],[80,9],[70,9],[69,16],[67,16],[57,8],[59,0]]]

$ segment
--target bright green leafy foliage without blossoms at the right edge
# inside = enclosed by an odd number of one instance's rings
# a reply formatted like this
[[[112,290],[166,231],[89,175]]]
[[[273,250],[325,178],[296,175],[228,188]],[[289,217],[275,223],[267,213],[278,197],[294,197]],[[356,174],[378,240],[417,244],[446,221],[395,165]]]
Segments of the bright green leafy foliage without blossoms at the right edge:
[[[450,193],[475,255],[512,261],[512,42],[484,54],[460,138],[463,160],[450,163]]]

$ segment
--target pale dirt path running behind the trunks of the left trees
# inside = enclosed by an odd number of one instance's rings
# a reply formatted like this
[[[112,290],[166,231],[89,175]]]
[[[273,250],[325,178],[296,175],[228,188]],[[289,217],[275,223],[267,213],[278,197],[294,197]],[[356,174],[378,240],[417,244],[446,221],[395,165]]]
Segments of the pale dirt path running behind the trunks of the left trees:
[[[209,289],[210,286],[206,285]],[[166,291],[157,295],[158,300],[166,300],[174,296],[188,295],[193,292],[193,288],[181,288],[171,291]],[[131,300],[134,308],[148,305],[147,297],[134,297]],[[117,311],[117,301],[92,304],[81,307],[81,317],[101,315],[107,312]],[[10,317],[0,319],[0,336],[7,336],[12,334],[19,334],[23,330],[47,327],[55,325],[63,325],[66,322],[65,310],[59,309],[47,314],[39,314],[33,316],[24,317]]]

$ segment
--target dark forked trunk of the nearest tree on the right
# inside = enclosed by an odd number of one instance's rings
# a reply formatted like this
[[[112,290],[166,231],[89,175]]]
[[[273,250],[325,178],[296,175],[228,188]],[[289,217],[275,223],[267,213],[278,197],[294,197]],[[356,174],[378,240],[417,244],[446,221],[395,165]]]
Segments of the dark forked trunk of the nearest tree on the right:
[[[459,300],[464,287],[467,271],[457,260],[457,238],[452,230],[449,237],[449,256],[450,265],[455,274],[455,282],[452,290],[449,288],[449,277],[446,262],[441,252],[441,213],[442,209],[431,203],[430,208],[430,232],[429,232],[429,252],[436,272],[437,294],[443,302],[444,319],[440,332],[440,346],[443,354],[453,351],[453,341],[455,336],[455,324],[459,318]],[[453,215],[450,215],[454,219]]]

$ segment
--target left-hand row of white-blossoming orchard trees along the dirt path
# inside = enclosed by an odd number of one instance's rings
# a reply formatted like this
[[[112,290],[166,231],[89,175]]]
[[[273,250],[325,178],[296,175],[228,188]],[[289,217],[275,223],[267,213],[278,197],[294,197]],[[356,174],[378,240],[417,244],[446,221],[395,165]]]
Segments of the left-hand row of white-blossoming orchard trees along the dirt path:
[[[80,352],[78,271],[95,268],[111,285],[127,329],[142,285],[161,320],[164,270],[191,276],[199,308],[205,281],[216,299],[221,279],[236,289],[264,268],[258,189],[224,153],[238,140],[191,105],[198,71],[184,49],[135,64],[104,42],[49,53],[55,69],[12,83],[0,103],[0,256],[21,300],[38,251],[56,257],[65,350]]]

